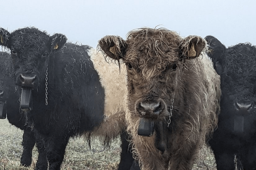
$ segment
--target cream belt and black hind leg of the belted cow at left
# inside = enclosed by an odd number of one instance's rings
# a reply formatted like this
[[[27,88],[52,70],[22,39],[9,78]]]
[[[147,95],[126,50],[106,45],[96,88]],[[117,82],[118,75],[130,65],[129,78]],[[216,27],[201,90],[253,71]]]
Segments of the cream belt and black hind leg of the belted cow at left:
[[[125,124],[125,95],[127,94],[126,70],[121,69],[114,63],[106,63],[102,53],[97,53],[95,49],[90,51],[94,68],[100,76],[100,82],[105,89],[105,118],[101,125],[92,132],[92,136],[98,136],[109,144],[111,139],[121,135],[121,161],[118,170],[130,170],[134,159],[129,147],[129,136],[126,133]],[[139,169],[134,164],[134,169]]]

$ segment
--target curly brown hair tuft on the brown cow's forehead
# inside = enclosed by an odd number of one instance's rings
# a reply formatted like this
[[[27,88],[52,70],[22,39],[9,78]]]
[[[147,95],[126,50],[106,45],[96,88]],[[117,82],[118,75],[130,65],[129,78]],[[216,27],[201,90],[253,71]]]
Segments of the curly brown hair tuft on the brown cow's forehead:
[[[181,37],[166,29],[142,28],[128,33],[125,62],[139,68],[143,75],[160,74],[166,66],[179,60]]]

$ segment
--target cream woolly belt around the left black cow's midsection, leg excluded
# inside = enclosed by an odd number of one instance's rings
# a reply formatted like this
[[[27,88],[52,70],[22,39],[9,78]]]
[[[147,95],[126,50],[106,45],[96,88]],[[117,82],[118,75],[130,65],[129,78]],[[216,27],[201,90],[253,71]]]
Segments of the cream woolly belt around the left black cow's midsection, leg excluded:
[[[91,60],[99,73],[100,82],[105,89],[105,119],[93,135],[115,138],[125,130],[124,101],[127,91],[126,70],[119,72],[115,64],[106,63],[102,53],[95,49],[90,51]]]

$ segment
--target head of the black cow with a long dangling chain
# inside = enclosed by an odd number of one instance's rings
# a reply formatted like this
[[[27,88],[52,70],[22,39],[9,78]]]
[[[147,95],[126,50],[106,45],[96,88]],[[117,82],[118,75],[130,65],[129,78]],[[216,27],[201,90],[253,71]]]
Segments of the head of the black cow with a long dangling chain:
[[[36,28],[12,33],[1,28],[0,37],[0,44],[11,51],[16,85],[30,88],[36,88],[44,80],[50,54],[66,42],[62,34],[49,36]]]

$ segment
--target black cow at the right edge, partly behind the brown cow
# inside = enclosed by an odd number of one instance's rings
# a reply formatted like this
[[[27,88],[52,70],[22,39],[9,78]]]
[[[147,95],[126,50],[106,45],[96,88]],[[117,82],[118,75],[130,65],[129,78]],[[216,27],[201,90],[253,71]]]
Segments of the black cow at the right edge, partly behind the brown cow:
[[[221,114],[209,141],[218,170],[256,169],[256,47],[225,46],[206,36],[209,56],[221,76]],[[235,163],[234,163],[234,159]]]

